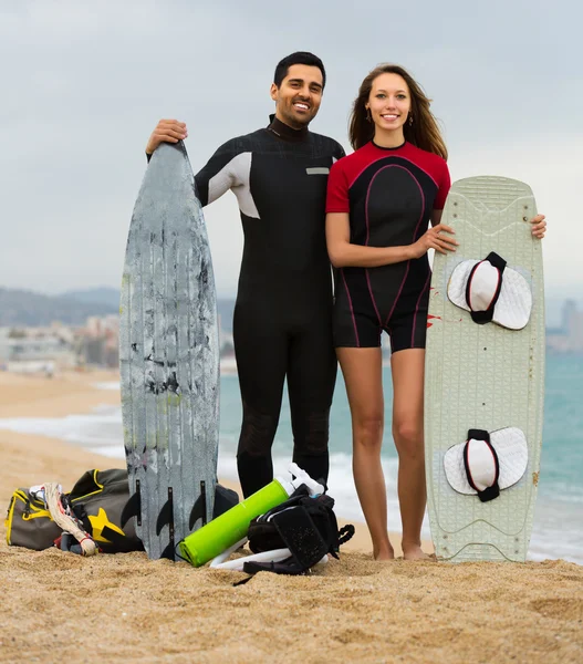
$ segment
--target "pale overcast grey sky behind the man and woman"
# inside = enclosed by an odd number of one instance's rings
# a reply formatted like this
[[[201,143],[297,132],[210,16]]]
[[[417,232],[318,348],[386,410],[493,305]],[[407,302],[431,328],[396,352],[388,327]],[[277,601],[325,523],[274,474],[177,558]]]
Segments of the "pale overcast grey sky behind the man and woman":
[[[581,297],[582,21],[572,0],[0,0],[0,287],[118,288],[158,120],[187,123],[197,170],[267,125],[277,62],[308,50],[327,71],[313,131],[348,149],[361,81],[404,65],[434,100],[452,179],[527,181],[549,221],[548,292]],[[205,217],[218,293],[233,295],[235,196]]]

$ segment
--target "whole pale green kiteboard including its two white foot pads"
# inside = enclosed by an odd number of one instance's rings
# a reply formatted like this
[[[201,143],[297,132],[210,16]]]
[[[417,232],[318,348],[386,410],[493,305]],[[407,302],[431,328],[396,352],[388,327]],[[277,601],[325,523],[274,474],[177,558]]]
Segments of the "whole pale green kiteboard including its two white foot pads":
[[[541,241],[523,183],[455,183],[436,255],[425,377],[427,502],[438,559],[523,561],[539,481],[544,396]]]

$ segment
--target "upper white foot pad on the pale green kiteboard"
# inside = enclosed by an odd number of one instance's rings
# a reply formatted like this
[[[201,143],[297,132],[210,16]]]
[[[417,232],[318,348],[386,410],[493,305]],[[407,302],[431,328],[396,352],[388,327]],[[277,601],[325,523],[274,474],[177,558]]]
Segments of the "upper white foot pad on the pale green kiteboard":
[[[522,330],[532,311],[532,292],[527,279],[508,266],[501,273],[488,260],[465,260],[451,272],[447,294],[456,307],[466,311],[487,311],[500,280],[500,295],[493,308],[492,321],[509,330]]]

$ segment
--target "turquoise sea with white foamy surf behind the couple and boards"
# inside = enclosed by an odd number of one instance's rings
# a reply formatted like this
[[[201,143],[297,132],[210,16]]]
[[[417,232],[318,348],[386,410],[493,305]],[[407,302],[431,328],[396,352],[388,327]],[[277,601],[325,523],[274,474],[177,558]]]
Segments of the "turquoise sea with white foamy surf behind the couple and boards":
[[[391,370],[383,370],[387,404],[383,467],[387,484],[388,529],[400,530],[396,494],[397,455],[391,438]],[[100,387],[117,388],[118,384]],[[545,376],[544,430],[539,498],[529,558],[563,558],[583,564],[583,356],[548,355]],[[219,476],[237,479],[235,460],[241,404],[237,375],[221,377],[221,422]],[[64,418],[0,419],[0,428],[44,434],[83,445],[98,454],[124,457],[119,407],[102,406],[92,414]],[[292,435],[290,409],[284,397],[280,425],[273,445],[275,475],[285,473],[290,461]],[[331,470],[329,491],[336,501],[336,513],[344,519],[364,521],[352,479],[351,419],[342,376],[331,413]],[[43,478],[39,478],[42,481]],[[428,519],[423,537],[430,539]]]

